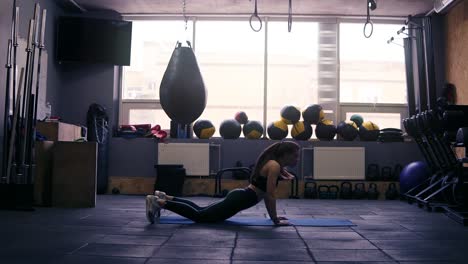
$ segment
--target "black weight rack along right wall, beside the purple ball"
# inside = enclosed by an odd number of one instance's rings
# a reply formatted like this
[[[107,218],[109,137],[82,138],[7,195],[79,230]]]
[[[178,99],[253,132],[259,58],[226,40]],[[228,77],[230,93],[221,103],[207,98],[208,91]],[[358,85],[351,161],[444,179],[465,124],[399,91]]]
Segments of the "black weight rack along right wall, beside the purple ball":
[[[403,125],[432,173],[403,198],[430,211],[445,211],[455,221],[468,225],[468,162],[454,151],[467,142],[468,106],[439,105],[404,119]]]

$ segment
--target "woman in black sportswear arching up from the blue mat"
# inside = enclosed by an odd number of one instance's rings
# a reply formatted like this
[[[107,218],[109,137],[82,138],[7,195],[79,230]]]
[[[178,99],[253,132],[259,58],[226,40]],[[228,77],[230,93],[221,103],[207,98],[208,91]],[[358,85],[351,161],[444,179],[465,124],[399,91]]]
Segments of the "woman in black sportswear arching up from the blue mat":
[[[265,200],[265,207],[275,225],[289,225],[288,219],[276,213],[276,187],[279,180],[292,180],[294,176],[285,167],[297,164],[300,146],[292,141],[270,145],[258,157],[251,175],[251,184],[234,189],[226,197],[201,207],[187,199],[174,197],[161,191],[146,196],[146,217],[154,223],[161,208],[179,214],[197,223],[224,221],[238,212]]]

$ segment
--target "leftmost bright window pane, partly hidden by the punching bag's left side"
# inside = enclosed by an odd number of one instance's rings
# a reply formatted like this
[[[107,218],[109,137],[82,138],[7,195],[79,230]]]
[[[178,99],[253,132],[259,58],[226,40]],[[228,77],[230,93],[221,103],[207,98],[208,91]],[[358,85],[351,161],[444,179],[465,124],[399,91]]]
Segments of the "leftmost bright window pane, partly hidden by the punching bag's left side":
[[[122,71],[120,123],[159,124],[170,127],[170,119],[159,104],[159,86],[177,41],[191,41],[180,20],[133,21],[130,66]]]

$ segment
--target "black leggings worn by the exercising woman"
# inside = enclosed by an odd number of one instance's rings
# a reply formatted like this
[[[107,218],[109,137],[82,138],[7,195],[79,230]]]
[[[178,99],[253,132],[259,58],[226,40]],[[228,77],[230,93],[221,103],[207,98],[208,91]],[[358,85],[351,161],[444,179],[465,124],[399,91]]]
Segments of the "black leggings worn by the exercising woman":
[[[174,197],[166,201],[164,209],[172,211],[197,223],[224,221],[238,212],[258,203],[257,194],[250,188],[234,189],[220,201],[205,207],[194,202]]]

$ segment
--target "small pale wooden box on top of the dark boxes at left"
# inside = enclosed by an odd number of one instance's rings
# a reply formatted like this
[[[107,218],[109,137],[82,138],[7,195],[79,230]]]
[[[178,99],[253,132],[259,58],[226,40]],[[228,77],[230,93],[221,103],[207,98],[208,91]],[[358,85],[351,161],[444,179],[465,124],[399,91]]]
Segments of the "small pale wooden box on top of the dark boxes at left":
[[[37,122],[36,129],[50,141],[75,141],[81,138],[81,127],[63,122]]]

